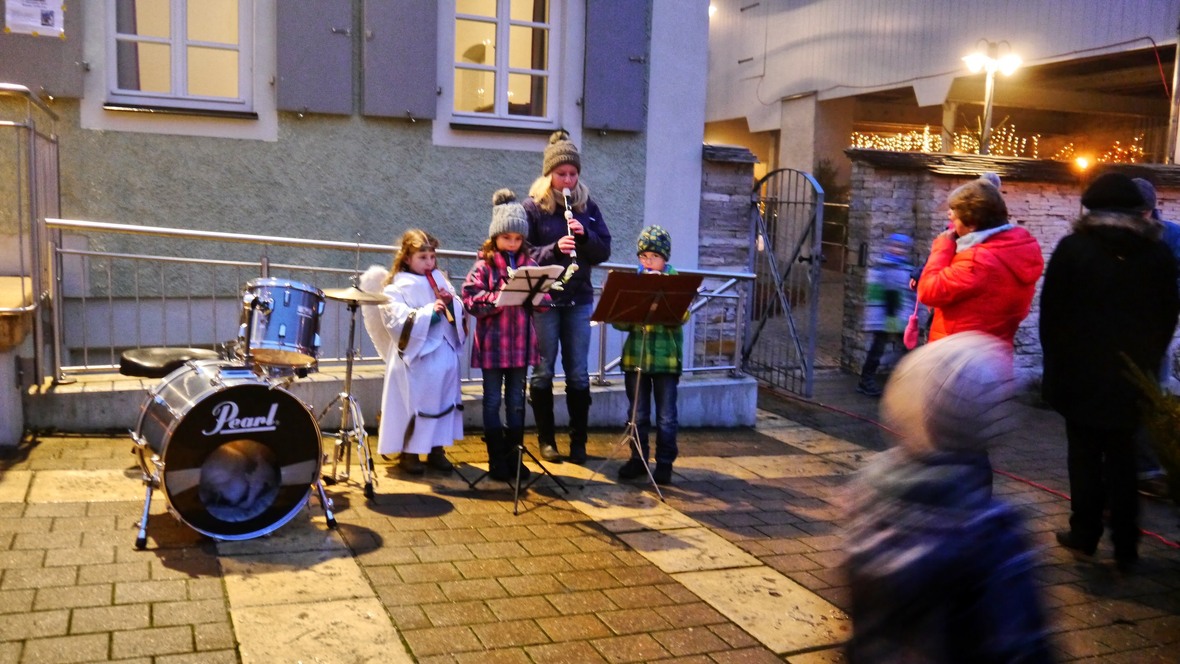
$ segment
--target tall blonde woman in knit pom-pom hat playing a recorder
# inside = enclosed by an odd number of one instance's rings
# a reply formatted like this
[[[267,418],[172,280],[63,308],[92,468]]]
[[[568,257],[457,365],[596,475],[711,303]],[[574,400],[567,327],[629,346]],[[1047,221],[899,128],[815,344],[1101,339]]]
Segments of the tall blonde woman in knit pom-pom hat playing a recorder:
[[[590,267],[610,258],[610,230],[590,190],[582,180],[582,156],[564,131],[549,138],[542,173],[524,202],[529,244],[540,265],[566,268],[560,289],[551,291],[553,305],[535,316],[540,361],[529,384],[537,442],[546,461],[557,461],[553,432],[553,372],[562,355],[565,406],[570,414],[570,461],[586,459],[586,420],[590,413],[590,313],[594,285]]]

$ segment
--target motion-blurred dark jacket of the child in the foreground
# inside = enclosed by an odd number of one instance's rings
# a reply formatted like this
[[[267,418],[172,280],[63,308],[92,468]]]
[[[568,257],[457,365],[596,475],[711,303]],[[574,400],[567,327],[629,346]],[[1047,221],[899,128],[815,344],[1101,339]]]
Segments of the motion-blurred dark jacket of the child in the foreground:
[[[1053,662],[1035,560],[984,454],[891,449],[850,491],[848,662]]]

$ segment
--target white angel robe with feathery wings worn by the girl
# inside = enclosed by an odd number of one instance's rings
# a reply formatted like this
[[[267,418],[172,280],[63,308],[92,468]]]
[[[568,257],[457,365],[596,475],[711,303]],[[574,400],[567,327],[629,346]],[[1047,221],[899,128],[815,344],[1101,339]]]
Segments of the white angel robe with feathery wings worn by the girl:
[[[380,292],[388,271],[371,267],[361,289]],[[434,270],[434,282],[454,295],[450,280]],[[463,302],[451,301],[454,320],[434,316],[434,289],[422,275],[398,272],[384,289],[389,303],[365,305],[365,329],[386,361],[378,453],[426,454],[463,439],[459,357],[466,333]]]

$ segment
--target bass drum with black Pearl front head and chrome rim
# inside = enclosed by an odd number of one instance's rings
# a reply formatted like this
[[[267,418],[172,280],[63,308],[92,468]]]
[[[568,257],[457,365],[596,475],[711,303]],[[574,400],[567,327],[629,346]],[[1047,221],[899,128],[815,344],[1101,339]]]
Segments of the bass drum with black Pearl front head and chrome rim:
[[[178,518],[216,539],[270,533],[312,493],[322,459],[308,407],[250,368],[189,362],[139,413],[139,466]]]

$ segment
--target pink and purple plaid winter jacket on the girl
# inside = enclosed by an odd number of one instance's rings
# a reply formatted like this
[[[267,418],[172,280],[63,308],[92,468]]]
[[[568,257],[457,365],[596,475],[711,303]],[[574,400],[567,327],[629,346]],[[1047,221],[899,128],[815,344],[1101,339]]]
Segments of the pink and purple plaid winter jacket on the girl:
[[[524,251],[517,254],[517,261],[518,268],[537,264]],[[540,361],[531,313],[519,305],[496,305],[500,288],[507,281],[507,255],[497,251],[491,263],[478,258],[463,283],[463,307],[476,317],[471,347],[473,368],[518,369]]]

